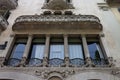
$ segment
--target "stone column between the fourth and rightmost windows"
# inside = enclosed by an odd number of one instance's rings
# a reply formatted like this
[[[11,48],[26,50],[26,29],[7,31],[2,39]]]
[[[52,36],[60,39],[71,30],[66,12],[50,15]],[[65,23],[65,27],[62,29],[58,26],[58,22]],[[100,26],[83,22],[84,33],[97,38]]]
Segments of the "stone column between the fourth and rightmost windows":
[[[89,54],[87,40],[86,40],[85,35],[82,35],[82,42],[83,42],[83,49],[84,49],[84,54],[85,54],[86,66],[91,66],[92,61],[90,59],[90,54]]]

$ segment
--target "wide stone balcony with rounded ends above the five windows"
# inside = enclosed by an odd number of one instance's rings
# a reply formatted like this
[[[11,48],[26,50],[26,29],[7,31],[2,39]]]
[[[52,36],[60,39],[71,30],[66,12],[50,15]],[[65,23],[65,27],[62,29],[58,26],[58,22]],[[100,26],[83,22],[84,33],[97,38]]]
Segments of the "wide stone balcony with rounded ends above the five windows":
[[[99,18],[93,15],[24,15],[15,20],[13,31],[24,30],[102,30]]]

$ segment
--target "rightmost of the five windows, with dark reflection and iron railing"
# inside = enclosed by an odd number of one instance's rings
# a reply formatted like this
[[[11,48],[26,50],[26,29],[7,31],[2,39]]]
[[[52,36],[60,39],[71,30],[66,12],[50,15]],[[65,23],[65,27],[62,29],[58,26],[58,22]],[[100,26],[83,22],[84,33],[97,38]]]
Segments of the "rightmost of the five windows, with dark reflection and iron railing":
[[[87,38],[87,45],[90,57],[95,65],[107,64],[98,38]]]

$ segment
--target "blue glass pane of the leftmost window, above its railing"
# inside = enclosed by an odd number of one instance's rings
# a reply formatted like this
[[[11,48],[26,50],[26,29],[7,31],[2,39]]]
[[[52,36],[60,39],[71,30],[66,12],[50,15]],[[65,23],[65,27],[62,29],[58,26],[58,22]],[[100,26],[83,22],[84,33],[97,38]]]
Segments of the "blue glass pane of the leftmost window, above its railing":
[[[15,44],[10,58],[22,59],[25,50],[25,44]]]

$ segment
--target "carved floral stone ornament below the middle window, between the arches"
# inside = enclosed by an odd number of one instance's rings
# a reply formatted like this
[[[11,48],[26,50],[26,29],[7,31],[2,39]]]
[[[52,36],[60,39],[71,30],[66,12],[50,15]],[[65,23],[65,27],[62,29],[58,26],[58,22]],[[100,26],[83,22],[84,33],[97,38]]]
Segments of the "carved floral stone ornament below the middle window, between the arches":
[[[60,78],[66,78],[70,75],[75,74],[74,70],[44,70],[44,71],[35,71],[36,76],[41,76],[44,79],[49,79],[52,76],[58,76]]]

